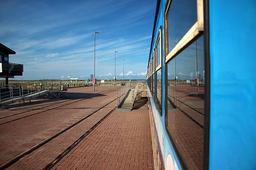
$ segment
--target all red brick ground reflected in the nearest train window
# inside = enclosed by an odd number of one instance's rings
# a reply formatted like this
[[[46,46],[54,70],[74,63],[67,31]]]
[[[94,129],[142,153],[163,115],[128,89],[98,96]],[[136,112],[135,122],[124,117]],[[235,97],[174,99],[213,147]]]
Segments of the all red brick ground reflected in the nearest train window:
[[[178,92],[178,99],[204,114],[204,91],[195,91],[195,87],[173,87]],[[200,88],[199,88],[200,90]],[[178,107],[196,122],[204,126],[204,115],[182,102]],[[203,169],[204,130],[182,111],[168,112],[168,127],[189,169]]]

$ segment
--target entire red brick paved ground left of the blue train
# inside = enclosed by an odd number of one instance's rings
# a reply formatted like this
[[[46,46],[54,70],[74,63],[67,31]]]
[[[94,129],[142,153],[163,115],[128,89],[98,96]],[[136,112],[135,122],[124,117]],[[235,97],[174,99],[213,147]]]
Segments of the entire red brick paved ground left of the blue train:
[[[116,107],[117,88],[71,88],[67,98],[38,98],[5,107],[7,110],[0,111],[0,168],[11,163],[7,169],[44,169]],[[153,169],[146,99],[135,104],[132,112],[115,109],[54,169]],[[89,116],[91,112],[95,114]]]

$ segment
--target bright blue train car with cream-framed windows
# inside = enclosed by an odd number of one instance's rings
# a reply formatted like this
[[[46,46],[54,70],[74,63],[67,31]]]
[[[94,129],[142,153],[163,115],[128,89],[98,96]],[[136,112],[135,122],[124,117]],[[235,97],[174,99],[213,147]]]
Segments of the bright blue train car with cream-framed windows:
[[[147,84],[155,169],[256,169],[256,1],[158,0]]]

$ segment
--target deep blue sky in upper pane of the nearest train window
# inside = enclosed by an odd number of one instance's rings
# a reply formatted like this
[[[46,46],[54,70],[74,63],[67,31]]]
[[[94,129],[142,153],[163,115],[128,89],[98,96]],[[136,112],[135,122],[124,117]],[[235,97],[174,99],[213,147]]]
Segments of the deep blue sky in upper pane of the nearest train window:
[[[196,0],[173,0],[169,9],[169,52],[197,21]]]

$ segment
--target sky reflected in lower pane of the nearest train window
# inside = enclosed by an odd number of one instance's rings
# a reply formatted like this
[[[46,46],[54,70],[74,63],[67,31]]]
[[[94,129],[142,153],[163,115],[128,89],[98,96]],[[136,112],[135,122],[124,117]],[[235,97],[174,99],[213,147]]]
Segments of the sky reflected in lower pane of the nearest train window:
[[[196,70],[204,79],[204,37],[199,37],[185,50],[176,56],[176,76],[178,79],[190,80],[196,78]],[[196,47],[197,47],[197,68],[196,68]],[[167,64],[168,79],[173,80],[175,76],[175,59]],[[192,74],[191,74],[192,73]],[[199,77],[198,77],[199,78]]]

